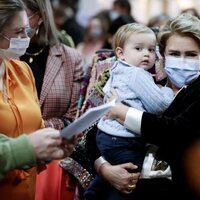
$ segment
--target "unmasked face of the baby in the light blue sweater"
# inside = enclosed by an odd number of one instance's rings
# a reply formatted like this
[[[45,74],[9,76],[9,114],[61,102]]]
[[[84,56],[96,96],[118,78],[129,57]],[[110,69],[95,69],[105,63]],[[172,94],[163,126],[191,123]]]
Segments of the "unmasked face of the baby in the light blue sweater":
[[[156,36],[153,33],[134,33],[123,48],[123,60],[145,70],[155,64]]]

